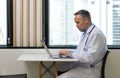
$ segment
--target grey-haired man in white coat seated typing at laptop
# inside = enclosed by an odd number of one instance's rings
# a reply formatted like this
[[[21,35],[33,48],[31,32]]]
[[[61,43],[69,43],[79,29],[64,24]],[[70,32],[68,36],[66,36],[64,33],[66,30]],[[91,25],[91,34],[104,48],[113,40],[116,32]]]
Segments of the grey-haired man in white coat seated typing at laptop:
[[[62,50],[59,54],[78,58],[79,62],[66,66],[71,69],[58,78],[100,78],[102,58],[107,51],[106,38],[92,24],[88,11],[80,10],[74,15],[76,27],[83,32],[80,42],[74,51]]]

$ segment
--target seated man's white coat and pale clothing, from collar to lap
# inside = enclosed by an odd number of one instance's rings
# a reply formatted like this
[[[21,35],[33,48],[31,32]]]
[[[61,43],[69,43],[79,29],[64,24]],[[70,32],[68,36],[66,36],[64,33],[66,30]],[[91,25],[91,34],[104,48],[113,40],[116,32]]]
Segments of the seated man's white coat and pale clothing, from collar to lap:
[[[77,48],[72,52],[77,63],[63,64],[61,68],[70,69],[58,78],[100,78],[102,61],[90,67],[90,64],[103,58],[107,51],[106,38],[102,31],[92,24],[81,36]],[[59,67],[58,67],[59,68]]]

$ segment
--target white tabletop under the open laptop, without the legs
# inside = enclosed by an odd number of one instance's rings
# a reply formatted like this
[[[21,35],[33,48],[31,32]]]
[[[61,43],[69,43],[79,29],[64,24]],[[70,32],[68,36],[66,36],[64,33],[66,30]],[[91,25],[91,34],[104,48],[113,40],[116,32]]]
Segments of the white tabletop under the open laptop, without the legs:
[[[18,57],[17,61],[43,61],[43,62],[77,62],[78,59],[52,59],[48,55],[42,55],[42,54],[22,54]]]

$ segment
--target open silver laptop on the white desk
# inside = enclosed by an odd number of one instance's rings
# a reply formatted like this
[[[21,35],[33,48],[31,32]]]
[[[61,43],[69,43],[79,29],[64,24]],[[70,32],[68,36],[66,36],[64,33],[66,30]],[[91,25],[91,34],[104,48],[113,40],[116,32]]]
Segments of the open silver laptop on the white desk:
[[[45,41],[41,40],[43,47],[45,48],[46,52],[49,54],[49,56],[53,59],[65,59],[65,58],[73,58],[73,57],[67,57],[65,55],[52,55],[51,52],[49,51],[49,49],[47,48]]]

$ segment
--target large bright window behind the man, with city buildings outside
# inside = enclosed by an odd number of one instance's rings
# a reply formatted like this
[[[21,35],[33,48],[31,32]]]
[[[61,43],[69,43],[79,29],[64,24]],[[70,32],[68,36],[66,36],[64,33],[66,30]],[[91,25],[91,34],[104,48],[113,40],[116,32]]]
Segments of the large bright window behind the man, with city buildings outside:
[[[106,36],[107,45],[120,45],[120,0],[45,0],[45,40],[48,46],[77,45],[81,32],[74,13],[86,9]],[[114,47],[114,46],[113,46]]]

